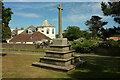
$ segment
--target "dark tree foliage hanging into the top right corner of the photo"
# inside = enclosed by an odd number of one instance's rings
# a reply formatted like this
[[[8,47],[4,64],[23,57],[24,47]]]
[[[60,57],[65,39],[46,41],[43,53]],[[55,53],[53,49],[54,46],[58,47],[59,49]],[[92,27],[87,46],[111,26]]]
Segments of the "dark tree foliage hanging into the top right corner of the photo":
[[[101,8],[105,16],[114,17],[114,21],[120,24],[120,1],[119,2],[102,2]]]

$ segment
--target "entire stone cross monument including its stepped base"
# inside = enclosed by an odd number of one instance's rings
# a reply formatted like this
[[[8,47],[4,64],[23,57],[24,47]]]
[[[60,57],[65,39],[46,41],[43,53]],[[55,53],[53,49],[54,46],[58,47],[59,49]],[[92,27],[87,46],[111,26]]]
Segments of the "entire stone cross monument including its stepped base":
[[[50,50],[46,51],[44,57],[40,57],[39,62],[33,62],[33,66],[50,68],[60,71],[69,72],[81,63],[79,55],[74,55],[74,50],[70,49],[67,38],[62,36],[62,10],[61,4],[57,7],[59,10],[59,38],[53,39]]]

